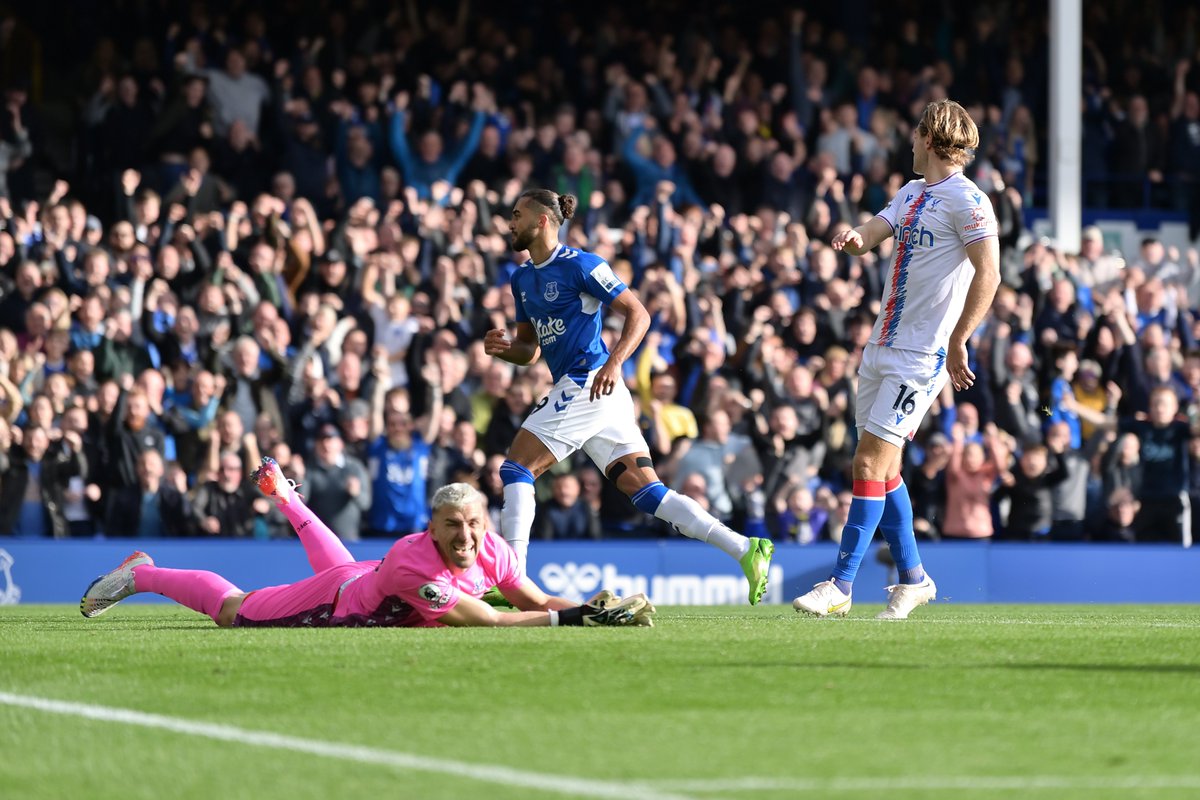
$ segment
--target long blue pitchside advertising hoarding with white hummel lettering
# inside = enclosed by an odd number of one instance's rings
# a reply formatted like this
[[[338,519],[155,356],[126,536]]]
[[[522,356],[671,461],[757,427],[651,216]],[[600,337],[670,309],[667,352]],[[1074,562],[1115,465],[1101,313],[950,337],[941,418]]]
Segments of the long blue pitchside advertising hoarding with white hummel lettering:
[[[355,542],[359,559],[378,559],[391,542]],[[245,590],[293,583],[311,575],[295,541],[0,539],[0,604],[77,603],[97,575],[133,549],[161,566],[212,570]],[[922,554],[938,599],[980,602],[1200,602],[1200,548],[1166,545],[926,545]],[[829,576],[833,545],[780,543],[764,603],[787,603]],[[662,606],[746,602],[746,582],[724,553],[688,540],[644,542],[533,542],[529,575],[548,593],[582,600],[600,588],[646,593]],[[854,583],[860,602],[883,602],[895,576],[872,548]],[[131,602],[164,602],[149,595]]]

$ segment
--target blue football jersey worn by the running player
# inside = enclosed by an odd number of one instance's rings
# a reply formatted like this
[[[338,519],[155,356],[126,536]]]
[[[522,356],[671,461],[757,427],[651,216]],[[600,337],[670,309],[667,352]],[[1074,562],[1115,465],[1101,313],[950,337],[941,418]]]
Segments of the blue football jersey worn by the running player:
[[[533,325],[551,375],[556,381],[572,375],[582,386],[587,373],[608,360],[600,306],[625,284],[595,253],[559,245],[545,263],[521,265],[511,285],[517,321]]]

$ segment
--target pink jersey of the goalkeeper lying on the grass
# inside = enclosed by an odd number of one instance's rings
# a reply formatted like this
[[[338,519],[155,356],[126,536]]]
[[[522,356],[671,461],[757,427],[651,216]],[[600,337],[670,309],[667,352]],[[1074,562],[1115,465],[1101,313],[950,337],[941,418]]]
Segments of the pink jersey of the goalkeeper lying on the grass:
[[[524,579],[516,553],[491,531],[469,570],[448,567],[428,531],[398,540],[382,561],[359,564],[365,570],[342,589],[330,625],[437,626],[462,595],[516,589]]]

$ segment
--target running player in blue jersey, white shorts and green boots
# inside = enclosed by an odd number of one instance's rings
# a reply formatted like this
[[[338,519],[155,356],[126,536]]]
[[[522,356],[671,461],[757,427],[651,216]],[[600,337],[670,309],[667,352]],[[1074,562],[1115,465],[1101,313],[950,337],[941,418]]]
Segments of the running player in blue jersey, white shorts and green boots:
[[[655,474],[620,369],[646,335],[650,317],[602,258],[559,243],[558,229],[574,216],[575,203],[571,194],[530,190],[517,199],[509,223],[512,249],[528,249],[530,255],[511,281],[516,338],[491,330],[484,347],[488,355],[517,365],[542,355],[554,385],[529,413],[500,467],[500,533],[523,571],[534,519],[534,479],[582,447],[635,506],[737,559],[755,604],[767,589],[774,546],[730,530]],[[625,318],[612,353],[600,337],[602,305]]]

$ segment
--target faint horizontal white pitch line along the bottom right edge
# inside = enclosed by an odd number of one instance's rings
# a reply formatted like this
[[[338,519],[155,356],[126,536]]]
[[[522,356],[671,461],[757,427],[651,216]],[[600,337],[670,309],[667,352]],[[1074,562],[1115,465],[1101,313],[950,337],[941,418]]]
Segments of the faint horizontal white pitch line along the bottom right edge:
[[[962,775],[946,777],[896,776],[888,778],[714,778],[710,781],[648,781],[648,786],[677,792],[1036,792],[1056,789],[1200,789],[1200,775]]]

